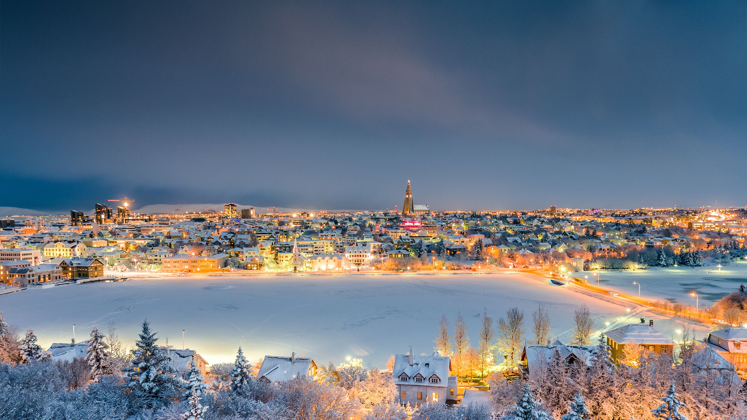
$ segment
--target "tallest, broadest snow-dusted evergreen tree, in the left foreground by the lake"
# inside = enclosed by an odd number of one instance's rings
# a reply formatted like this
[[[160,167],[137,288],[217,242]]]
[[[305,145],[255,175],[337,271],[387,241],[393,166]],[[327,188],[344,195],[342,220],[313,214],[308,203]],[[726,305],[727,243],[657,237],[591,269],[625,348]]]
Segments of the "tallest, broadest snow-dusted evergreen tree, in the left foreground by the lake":
[[[135,341],[135,348],[131,350],[131,364],[122,369],[125,389],[134,394],[134,403],[150,409],[166,404],[176,395],[177,387],[170,359],[155,344],[156,341],[158,339],[151,332],[149,322],[143,322],[140,339]]]

